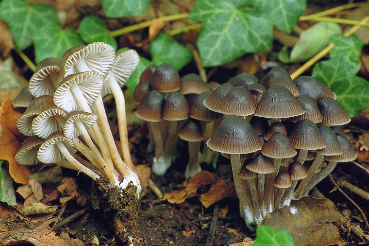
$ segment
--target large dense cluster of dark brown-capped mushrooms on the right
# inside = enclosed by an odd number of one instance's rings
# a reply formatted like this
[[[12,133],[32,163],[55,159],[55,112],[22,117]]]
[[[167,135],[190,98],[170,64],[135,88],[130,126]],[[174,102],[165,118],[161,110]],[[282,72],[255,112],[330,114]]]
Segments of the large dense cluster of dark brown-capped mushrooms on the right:
[[[350,141],[331,126],[351,121],[319,80],[292,81],[282,68],[259,82],[239,74],[203,104],[226,117],[207,146],[231,159],[240,211],[254,228],[328,176],[337,162],[356,158]]]

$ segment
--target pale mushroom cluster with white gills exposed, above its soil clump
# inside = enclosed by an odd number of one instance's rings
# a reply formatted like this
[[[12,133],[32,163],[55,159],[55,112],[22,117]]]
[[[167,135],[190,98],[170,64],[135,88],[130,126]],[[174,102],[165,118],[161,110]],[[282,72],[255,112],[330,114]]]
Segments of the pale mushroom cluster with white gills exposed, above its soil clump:
[[[93,180],[105,177],[109,187],[135,194],[138,200],[141,186],[129,151],[121,90],[138,60],[134,50],[116,53],[110,45],[97,42],[74,47],[61,60],[40,62],[29,86],[13,102],[27,107],[17,128],[29,136],[16,154],[17,162],[56,163]],[[116,101],[123,159],[105,113],[102,97],[106,94],[113,94]]]

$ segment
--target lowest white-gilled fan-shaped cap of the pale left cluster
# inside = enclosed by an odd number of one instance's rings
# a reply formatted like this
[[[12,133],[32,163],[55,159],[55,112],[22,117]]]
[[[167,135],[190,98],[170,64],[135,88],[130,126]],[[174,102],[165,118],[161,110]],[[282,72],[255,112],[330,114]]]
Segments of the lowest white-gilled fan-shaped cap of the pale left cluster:
[[[41,144],[37,151],[37,158],[43,163],[55,163],[63,160],[64,157],[56,145],[57,142],[63,142],[70,153],[77,152],[72,140],[68,139],[61,132],[53,132],[45,142]]]

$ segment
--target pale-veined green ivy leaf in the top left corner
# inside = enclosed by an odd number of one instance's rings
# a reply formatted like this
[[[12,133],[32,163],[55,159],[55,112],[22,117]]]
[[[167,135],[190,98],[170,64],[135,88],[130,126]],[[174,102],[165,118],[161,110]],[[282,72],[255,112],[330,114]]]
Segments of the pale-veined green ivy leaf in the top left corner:
[[[8,23],[14,41],[21,50],[31,46],[35,36],[42,35],[42,26],[57,23],[56,11],[50,5],[29,5],[26,0],[2,0],[0,18]]]

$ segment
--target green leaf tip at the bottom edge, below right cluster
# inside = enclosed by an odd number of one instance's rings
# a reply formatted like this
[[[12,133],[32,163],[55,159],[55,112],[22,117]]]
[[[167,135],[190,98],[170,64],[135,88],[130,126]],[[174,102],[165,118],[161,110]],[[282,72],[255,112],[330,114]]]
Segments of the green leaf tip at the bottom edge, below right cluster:
[[[286,230],[268,226],[256,228],[256,239],[252,246],[293,246],[293,238]]]

